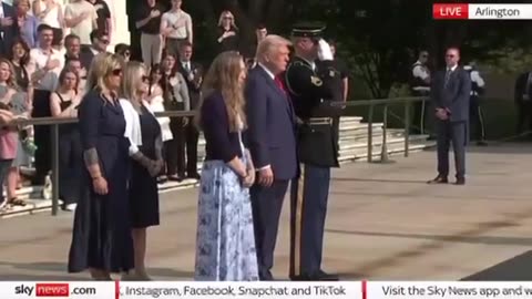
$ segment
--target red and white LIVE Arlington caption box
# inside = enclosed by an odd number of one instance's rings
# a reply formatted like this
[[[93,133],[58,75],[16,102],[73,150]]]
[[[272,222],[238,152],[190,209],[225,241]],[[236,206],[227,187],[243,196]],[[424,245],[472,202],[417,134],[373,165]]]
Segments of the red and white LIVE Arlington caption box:
[[[532,20],[532,4],[432,4],[436,20]]]

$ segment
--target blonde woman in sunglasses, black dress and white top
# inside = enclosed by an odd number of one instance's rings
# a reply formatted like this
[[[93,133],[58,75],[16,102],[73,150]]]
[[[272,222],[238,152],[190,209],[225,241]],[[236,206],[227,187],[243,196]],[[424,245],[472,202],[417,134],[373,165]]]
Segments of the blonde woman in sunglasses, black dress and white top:
[[[120,104],[126,123],[132,158],[130,176],[130,215],[133,228],[135,272],[127,279],[150,280],[144,259],[146,228],[158,225],[157,175],[163,167],[162,136],[158,121],[143,100],[149,94],[150,76],[140,62],[129,62],[121,86]]]

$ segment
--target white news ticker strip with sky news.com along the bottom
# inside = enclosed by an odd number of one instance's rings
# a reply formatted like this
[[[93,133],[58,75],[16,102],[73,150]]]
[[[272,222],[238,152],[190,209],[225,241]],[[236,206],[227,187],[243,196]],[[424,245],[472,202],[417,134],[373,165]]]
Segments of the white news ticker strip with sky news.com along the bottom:
[[[515,299],[532,297],[532,281],[0,282],[0,298],[153,299]]]

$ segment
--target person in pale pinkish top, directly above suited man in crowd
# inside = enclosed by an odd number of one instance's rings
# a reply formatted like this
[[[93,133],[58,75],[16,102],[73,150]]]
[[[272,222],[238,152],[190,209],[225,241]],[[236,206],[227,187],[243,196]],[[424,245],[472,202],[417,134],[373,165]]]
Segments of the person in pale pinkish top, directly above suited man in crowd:
[[[177,55],[182,41],[192,44],[192,18],[181,9],[182,0],[172,0],[172,9],[161,19],[161,34],[166,38],[166,50]]]

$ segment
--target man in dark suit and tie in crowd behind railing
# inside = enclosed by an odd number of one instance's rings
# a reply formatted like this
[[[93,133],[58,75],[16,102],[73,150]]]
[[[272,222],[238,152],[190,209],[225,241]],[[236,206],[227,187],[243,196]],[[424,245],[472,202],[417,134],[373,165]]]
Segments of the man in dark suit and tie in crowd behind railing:
[[[203,68],[200,63],[192,61],[192,43],[183,42],[180,47],[180,63],[177,63],[177,71],[183,75],[188,87],[188,96],[191,99],[191,110],[195,110],[200,103],[200,92],[203,82]],[[183,141],[186,144],[186,177],[200,178],[197,173],[197,141],[200,133],[192,121],[188,117],[184,127],[185,138]],[[185,158],[180,157],[180,158]]]

